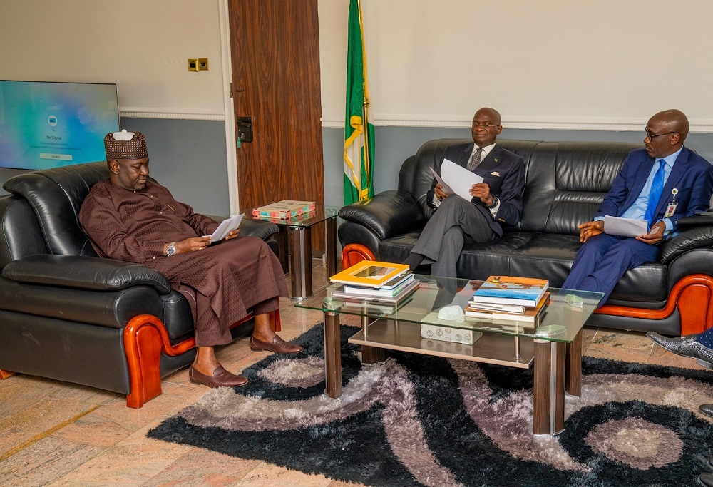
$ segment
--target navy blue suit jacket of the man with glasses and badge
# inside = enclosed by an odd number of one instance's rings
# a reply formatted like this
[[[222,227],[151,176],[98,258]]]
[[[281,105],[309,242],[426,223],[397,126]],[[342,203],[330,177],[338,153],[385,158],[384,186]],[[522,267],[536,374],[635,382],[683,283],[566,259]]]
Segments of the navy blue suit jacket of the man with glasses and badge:
[[[614,180],[612,189],[605,196],[597,216],[620,217],[639,197],[655,163],[645,149],[632,150]],[[683,148],[676,158],[671,174],[666,180],[661,198],[656,206],[654,221],[664,217],[672,201],[671,191],[676,188],[678,206],[671,217],[673,230],[676,220],[691,216],[694,212],[706,211],[713,193],[713,165],[696,153]]]

